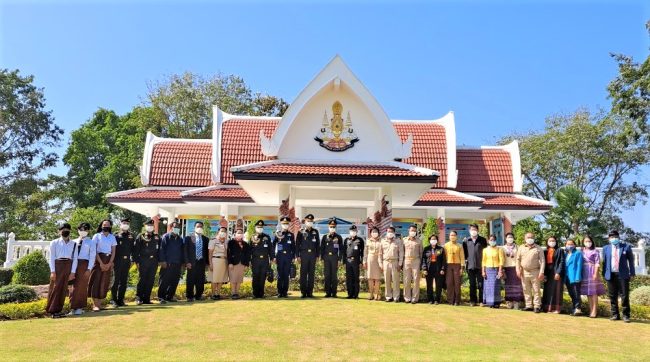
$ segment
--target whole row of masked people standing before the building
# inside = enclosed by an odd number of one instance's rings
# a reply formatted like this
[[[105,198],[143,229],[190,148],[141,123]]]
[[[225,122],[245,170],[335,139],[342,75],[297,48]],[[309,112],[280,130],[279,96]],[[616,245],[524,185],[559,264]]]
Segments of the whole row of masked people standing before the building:
[[[508,308],[559,313],[564,286],[572,300],[572,315],[580,315],[581,295],[589,301],[589,316],[596,317],[598,296],[605,294],[600,276],[607,281],[611,301],[612,320],[620,319],[618,298],[622,299],[622,318],[630,321],[629,282],[634,276],[634,256],[629,244],[621,242],[617,231],[609,234],[609,244],[604,247],[601,267],[600,253],[590,236],[578,250],[573,240],[565,248],[559,247],[556,238],[546,241],[546,249],[535,243],[532,233],[525,235],[525,243],[517,245],[512,233],[506,234],[506,243],[497,245],[494,235],[486,240],[479,235],[478,225],[469,227],[470,236],[458,240],[451,231],[448,242],[440,245],[438,236],[431,235],[429,245],[423,247],[416,225],[411,225],[404,238],[396,236],[390,226],[381,237],[377,227],[370,229],[367,240],[359,237],[357,227],[350,226],[349,236],[337,233],[335,219],[328,222],[328,232],[320,235],[314,228],[314,216],[304,218],[304,227],[294,235],[289,231],[291,220],[280,219],[280,230],[273,236],[264,233],[264,222],[255,223],[255,232],[249,242],[244,239],[244,229],[238,226],[232,238],[221,227],[210,240],[203,232],[203,223],[197,222],[194,231],[181,236],[180,224],[170,224],[170,231],[160,237],[154,231],[154,221],[147,220],[145,232],[134,235],[130,220],[122,219],[120,230],[112,233],[113,224],[104,220],[92,238],[88,223],[77,227],[78,237],[71,238],[71,226],[59,228],[60,237],[50,244],[50,290],[47,312],[62,317],[63,304],[70,292],[70,314],[79,315],[93,300],[93,311],[102,309],[111,279],[111,304],[124,306],[131,263],[139,272],[136,303],[151,304],[155,275],[160,267],[158,301],[176,302],[176,288],[183,267],[186,273],[188,301],[201,300],[206,283],[206,270],[212,284],[211,299],[219,300],[221,287],[230,283],[232,299],[240,298],[240,286],[250,267],[253,298],[263,298],[266,281],[272,281],[272,264],[276,265],[278,298],[287,298],[290,276],[295,273],[295,261],[300,264],[301,298],[313,298],[315,267],[323,262],[325,298],[336,298],[338,266],[345,265],[347,298],[357,299],[360,291],[361,269],[366,272],[370,300],[382,300],[380,285],[385,283],[384,300],[387,302],[418,303],[420,278],[426,280],[427,300],[430,304],[441,302],[446,289],[447,302],[461,303],[461,278],[464,272],[469,279],[470,306],[499,308],[502,304],[501,281],[504,281],[505,302]],[[400,289],[403,275],[403,299]],[[111,276],[113,274],[113,276]],[[543,284],[543,294],[541,292]]]

